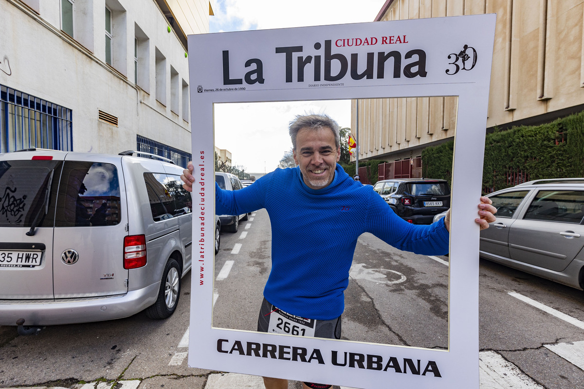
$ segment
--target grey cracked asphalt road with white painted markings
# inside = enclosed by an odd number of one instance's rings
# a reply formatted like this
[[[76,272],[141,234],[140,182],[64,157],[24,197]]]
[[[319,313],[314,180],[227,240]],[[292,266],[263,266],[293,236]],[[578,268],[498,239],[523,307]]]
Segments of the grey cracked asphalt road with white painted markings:
[[[258,211],[221,240],[213,325],[255,330],[269,273],[267,214]],[[346,290],[343,338],[446,348],[448,259],[402,253],[362,236]],[[0,387],[261,387],[256,377],[187,367],[190,274],[182,282],[179,307],[168,320],[140,313],[50,326],[28,337],[0,327]],[[584,292],[481,261],[479,293],[482,389],[584,387]]]

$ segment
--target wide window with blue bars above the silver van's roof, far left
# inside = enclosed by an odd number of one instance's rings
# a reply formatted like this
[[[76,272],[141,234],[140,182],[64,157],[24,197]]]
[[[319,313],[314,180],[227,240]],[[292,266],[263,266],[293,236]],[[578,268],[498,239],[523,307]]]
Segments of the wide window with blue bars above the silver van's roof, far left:
[[[0,153],[28,148],[73,150],[72,112],[0,84]]]

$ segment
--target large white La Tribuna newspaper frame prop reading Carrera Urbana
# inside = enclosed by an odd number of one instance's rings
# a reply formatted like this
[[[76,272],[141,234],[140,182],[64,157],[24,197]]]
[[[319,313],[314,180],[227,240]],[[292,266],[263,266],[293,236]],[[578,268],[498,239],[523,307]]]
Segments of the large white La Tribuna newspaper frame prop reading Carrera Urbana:
[[[494,32],[495,15],[472,15],[189,36],[196,178],[189,366],[357,388],[479,387],[474,215]],[[213,104],[419,96],[458,96],[449,349],[213,328]],[[307,357],[299,356],[303,353]],[[347,360],[356,362],[343,363]]]

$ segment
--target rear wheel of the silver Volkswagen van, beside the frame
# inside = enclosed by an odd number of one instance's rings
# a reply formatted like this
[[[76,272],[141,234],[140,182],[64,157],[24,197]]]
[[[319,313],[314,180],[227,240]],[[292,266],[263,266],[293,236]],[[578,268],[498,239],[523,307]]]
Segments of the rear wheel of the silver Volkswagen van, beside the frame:
[[[179,303],[180,297],[180,267],[179,262],[170,258],[166,262],[158,298],[146,309],[146,316],[151,319],[165,319],[171,316]]]

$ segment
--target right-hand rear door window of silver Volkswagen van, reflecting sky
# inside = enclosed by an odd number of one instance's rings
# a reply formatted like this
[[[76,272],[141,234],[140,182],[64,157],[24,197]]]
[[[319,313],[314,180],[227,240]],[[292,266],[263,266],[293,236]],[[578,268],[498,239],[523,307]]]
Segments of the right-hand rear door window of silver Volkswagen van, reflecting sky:
[[[65,161],[57,195],[55,227],[120,223],[120,182],[111,163]]]

